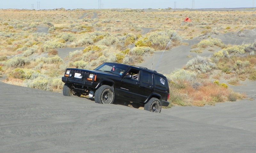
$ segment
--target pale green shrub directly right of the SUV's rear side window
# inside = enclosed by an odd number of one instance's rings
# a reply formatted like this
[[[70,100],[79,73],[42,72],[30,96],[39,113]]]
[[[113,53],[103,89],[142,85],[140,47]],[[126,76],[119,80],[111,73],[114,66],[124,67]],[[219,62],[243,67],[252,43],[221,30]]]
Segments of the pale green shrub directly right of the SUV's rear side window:
[[[170,75],[166,75],[168,81],[189,81],[193,82],[196,80],[196,73],[190,72],[185,69],[175,69]]]

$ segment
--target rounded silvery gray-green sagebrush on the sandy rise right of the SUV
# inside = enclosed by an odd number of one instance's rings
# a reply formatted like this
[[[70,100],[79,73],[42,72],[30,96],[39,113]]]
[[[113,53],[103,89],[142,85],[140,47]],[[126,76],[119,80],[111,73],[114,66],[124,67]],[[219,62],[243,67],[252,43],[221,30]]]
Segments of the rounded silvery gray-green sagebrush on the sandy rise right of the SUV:
[[[207,57],[202,56],[196,56],[186,64],[186,69],[196,71],[197,73],[207,73],[215,67],[215,63],[211,62]]]

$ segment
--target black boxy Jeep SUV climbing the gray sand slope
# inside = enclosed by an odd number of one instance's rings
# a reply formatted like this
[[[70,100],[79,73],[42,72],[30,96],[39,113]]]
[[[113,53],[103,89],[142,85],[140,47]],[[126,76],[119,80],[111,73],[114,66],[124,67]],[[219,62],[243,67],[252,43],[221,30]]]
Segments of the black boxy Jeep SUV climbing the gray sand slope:
[[[139,66],[107,62],[94,70],[68,68],[62,81],[64,96],[89,95],[100,104],[122,101],[156,113],[169,105],[166,77]]]

